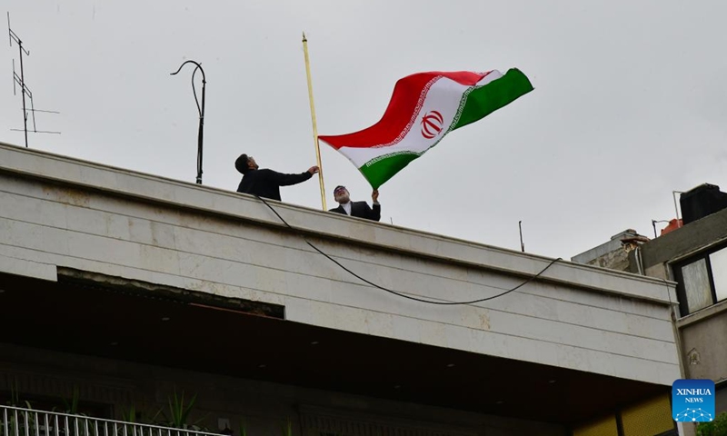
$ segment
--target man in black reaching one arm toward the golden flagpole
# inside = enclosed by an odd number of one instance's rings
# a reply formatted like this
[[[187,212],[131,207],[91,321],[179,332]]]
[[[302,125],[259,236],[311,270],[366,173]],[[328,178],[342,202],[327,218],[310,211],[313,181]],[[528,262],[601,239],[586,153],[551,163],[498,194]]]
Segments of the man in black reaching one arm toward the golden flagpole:
[[[253,156],[241,154],[234,161],[234,167],[243,173],[243,180],[237,186],[238,193],[252,193],[264,198],[280,201],[280,187],[303,183],[318,173],[318,167],[312,166],[308,171],[299,174],[284,174],[277,171],[260,169]]]

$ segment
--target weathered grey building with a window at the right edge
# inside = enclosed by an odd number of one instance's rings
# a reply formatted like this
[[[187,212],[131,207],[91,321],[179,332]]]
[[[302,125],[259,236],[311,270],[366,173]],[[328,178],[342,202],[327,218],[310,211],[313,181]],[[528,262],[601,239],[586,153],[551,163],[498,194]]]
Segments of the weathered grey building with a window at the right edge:
[[[702,184],[682,193],[680,203],[682,220],[632,247],[628,267],[620,262],[615,269],[678,282],[674,322],[682,371],[685,378],[716,383],[720,413],[727,411],[727,193]],[[622,260],[626,252],[615,249],[610,257]]]

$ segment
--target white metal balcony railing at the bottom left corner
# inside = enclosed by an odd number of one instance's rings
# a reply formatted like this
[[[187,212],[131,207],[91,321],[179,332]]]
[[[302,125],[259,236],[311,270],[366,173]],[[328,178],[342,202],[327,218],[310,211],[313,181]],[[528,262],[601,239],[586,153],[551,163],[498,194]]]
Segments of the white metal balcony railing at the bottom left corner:
[[[0,436],[219,436],[135,422],[104,420],[55,411],[0,406]]]

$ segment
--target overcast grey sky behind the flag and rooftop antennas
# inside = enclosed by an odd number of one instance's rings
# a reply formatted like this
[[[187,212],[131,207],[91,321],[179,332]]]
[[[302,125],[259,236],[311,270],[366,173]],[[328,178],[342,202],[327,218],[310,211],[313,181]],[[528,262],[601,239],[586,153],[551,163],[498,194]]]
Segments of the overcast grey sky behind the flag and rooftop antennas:
[[[627,228],[653,237],[672,191],[727,191],[727,2],[4,0],[30,50],[32,148],[194,183],[191,65],[207,76],[204,184],[234,191],[234,159],[315,164],[301,33],[319,134],[379,120],[422,71],[520,68],[535,90],[457,130],[380,189],[382,222],[570,259]],[[5,17],[4,17],[5,20]],[[6,32],[6,30],[5,30]],[[0,141],[24,144],[17,46],[0,62]],[[321,144],[326,198],[352,163]],[[283,200],[320,208],[317,179]],[[262,206],[261,206],[262,207]],[[658,224],[661,230],[663,223]]]

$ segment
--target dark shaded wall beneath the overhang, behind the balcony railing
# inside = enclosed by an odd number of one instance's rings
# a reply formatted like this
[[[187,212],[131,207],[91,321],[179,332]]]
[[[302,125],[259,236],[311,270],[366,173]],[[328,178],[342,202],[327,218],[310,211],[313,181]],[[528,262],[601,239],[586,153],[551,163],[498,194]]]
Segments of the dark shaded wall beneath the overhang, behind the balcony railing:
[[[0,343],[0,392],[15,384],[24,396],[69,397],[77,386],[81,401],[113,405],[115,418],[134,404],[140,421],[149,421],[167,407],[168,398],[196,394],[189,421],[221,431],[228,420],[239,436],[241,423],[251,436],[282,434],[287,421],[294,434],[321,431],[411,436],[565,436],[559,425],[453,411],[422,404],[384,401],[332,391],[179,371],[62,352],[48,352]],[[313,432],[313,430],[315,430]],[[385,431],[384,431],[385,430]],[[367,432],[370,431],[370,432]],[[378,431],[378,432],[377,432]]]

